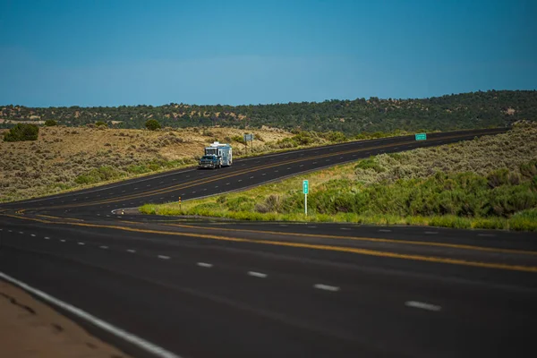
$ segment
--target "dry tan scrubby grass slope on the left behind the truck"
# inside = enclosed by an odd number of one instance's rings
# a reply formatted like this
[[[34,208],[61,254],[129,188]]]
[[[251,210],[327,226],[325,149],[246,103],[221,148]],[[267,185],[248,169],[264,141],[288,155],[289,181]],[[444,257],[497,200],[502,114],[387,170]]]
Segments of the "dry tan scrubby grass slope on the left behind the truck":
[[[3,132],[0,131],[0,138]],[[110,167],[109,180],[195,163],[212,141],[229,142],[245,131],[233,128],[166,128],[157,132],[106,128],[41,127],[38,141],[0,141],[0,202],[80,188],[75,179]],[[293,134],[270,128],[248,131],[265,142]],[[233,142],[235,155],[242,145]],[[142,167],[141,171],[140,166]]]

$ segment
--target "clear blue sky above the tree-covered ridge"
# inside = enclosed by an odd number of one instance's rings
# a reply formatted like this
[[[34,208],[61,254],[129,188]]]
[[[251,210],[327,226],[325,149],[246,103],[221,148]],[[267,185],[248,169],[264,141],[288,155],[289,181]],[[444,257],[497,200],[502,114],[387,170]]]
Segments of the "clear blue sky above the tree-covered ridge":
[[[0,0],[0,104],[534,90],[535,14],[533,0]]]

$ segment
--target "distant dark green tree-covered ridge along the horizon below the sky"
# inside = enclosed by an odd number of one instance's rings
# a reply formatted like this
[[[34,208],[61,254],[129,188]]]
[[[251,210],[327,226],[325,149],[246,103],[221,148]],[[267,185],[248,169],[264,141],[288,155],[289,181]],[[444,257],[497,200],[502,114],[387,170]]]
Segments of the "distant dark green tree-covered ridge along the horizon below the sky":
[[[13,121],[45,121],[81,126],[105,121],[119,128],[143,128],[149,118],[163,126],[221,125],[318,132],[447,131],[506,126],[517,120],[537,120],[536,90],[489,90],[436,98],[326,100],[274,105],[120,107],[0,107],[0,128]]]

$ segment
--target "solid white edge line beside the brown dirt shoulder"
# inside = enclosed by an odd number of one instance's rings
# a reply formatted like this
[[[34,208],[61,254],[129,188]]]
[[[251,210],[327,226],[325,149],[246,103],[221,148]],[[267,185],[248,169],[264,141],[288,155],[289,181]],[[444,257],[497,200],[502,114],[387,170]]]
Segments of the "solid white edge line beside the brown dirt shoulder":
[[[11,276],[4,274],[4,272],[0,272],[0,277],[4,278],[4,280],[6,281],[11,282],[13,285],[21,287],[23,290],[29,292],[30,294],[34,294],[38,296],[39,298],[43,299],[47,303],[52,303],[55,306],[60,307],[61,309],[72,313],[78,318],[90,322],[95,327],[106,330],[108,333],[113,334],[115,337],[120,337],[124,339],[125,341],[131,343],[132,345],[135,345],[141,349],[144,349],[150,354],[154,354],[162,358],[181,358],[180,355],[173,354],[169,351],[166,351],[166,349],[158,345],[154,345],[141,337],[137,337],[133,335],[132,333],[125,331],[124,329],[117,328],[105,320],[100,320],[97,317],[92,316],[90,313],[86,311],[82,311],[80,308],[74,307],[69,303],[64,303],[63,301],[58,300],[57,298],[51,296],[50,294],[46,294],[43,291],[38,290],[37,288],[33,288],[31,286],[26,285],[25,283],[17,280],[16,278],[13,278]]]

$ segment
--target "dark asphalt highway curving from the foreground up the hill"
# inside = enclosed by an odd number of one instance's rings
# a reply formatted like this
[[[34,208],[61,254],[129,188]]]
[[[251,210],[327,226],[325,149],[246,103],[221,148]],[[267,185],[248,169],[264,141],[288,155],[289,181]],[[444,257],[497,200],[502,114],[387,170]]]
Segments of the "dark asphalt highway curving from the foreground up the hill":
[[[0,277],[106,321],[117,329],[45,299],[134,356],[533,356],[534,233],[121,214],[499,132],[294,150],[3,204]]]

